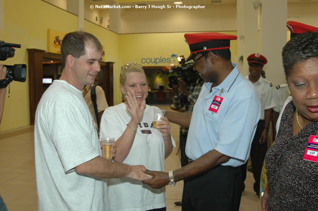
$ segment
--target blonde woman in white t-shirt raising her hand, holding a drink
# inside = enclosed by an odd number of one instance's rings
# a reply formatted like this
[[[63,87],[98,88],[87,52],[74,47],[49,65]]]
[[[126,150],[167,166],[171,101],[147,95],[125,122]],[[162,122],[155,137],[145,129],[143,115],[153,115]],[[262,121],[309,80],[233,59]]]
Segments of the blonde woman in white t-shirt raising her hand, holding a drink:
[[[170,122],[162,117],[158,129],[153,128],[155,106],[146,105],[148,85],[141,65],[121,68],[120,89],[123,103],[105,109],[100,123],[100,138],[116,139],[115,162],[143,164],[154,171],[163,171],[174,140]],[[164,188],[153,189],[140,181],[108,179],[111,210],[166,210]]]

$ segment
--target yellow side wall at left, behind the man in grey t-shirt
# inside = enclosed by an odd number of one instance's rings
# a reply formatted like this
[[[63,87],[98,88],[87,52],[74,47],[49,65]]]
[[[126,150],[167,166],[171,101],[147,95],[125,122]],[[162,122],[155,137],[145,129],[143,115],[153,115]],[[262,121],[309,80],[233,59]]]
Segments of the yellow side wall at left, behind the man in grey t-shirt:
[[[4,7],[5,27],[0,29],[0,40],[21,44],[21,49],[16,49],[14,58],[0,61],[7,65],[24,63],[28,68],[26,49],[47,50],[48,28],[65,33],[78,28],[77,16],[41,0],[5,0]],[[116,62],[116,67],[118,35],[88,21],[84,24],[86,31],[96,35],[105,47],[105,59]],[[29,125],[28,74],[26,82],[13,81],[10,86],[10,98],[7,95],[0,132]],[[8,91],[7,88],[7,93]]]

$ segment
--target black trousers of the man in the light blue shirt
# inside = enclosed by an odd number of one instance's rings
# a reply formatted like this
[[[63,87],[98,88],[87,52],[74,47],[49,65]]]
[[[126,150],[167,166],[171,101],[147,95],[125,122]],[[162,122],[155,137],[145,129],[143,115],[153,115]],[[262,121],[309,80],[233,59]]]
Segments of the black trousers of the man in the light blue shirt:
[[[220,165],[183,187],[182,211],[238,211],[241,200],[241,166]]]

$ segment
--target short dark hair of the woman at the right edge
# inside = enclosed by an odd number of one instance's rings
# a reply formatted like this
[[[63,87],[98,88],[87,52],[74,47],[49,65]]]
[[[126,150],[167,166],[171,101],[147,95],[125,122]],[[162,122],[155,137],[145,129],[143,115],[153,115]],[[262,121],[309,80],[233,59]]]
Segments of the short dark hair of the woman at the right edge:
[[[282,49],[281,55],[288,77],[297,62],[318,58],[318,32],[305,32],[293,37]]]

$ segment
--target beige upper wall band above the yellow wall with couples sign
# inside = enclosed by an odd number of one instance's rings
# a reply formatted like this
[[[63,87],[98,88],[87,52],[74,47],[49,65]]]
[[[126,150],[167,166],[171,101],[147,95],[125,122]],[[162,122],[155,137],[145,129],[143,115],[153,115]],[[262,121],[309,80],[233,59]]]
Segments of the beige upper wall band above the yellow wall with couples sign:
[[[205,9],[122,9],[121,33],[236,30],[236,5]]]

